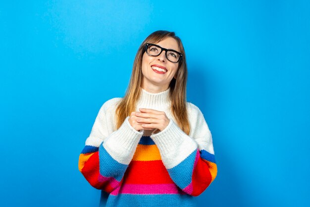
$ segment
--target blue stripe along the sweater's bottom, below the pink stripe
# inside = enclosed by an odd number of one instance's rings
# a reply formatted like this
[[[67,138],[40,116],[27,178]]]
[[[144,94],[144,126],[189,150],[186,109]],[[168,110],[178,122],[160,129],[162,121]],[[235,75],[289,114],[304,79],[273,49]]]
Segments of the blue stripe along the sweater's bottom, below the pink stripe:
[[[188,194],[117,196],[102,193],[99,207],[196,207],[195,197]]]

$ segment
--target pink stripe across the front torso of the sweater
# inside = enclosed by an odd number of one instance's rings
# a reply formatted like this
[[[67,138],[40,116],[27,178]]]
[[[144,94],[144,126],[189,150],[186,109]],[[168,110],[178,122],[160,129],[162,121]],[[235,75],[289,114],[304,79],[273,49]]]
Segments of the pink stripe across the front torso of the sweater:
[[[172,184],[125,184],[121,187],[121,194],[181,194],[174,183]]]

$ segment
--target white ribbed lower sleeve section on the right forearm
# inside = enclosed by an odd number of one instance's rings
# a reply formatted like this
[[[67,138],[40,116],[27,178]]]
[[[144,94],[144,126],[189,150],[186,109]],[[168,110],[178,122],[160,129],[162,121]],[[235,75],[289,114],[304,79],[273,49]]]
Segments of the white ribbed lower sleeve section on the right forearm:
[[[168,169],[179,164],[198,147],[197,142],[186,135],[172,119],[163,131],[151,135],[151,138]]]

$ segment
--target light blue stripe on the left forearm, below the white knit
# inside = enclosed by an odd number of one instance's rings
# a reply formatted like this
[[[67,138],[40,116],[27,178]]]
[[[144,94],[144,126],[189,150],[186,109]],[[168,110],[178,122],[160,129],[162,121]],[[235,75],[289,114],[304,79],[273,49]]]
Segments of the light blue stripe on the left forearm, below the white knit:
[[[104,177],[113,177],[117,181],[121,181],[128,165],[117,162],[105,150],[103,145],[99,146],[99,171]]]

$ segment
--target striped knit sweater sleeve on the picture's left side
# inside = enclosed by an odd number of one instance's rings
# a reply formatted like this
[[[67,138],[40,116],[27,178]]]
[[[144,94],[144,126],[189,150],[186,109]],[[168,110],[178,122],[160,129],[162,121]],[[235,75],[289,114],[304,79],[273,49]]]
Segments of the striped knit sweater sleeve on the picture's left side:
[[[105,102],[79,156],[79,170],[86,180],[107,193],[121,184],[143,135],[129,124],[129,117],[118,130],[112,132],[114,116],[109,114],[114,115],[114,111],[110,110],[110,103]]]

